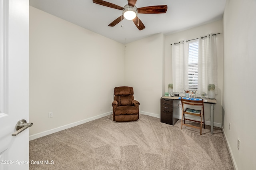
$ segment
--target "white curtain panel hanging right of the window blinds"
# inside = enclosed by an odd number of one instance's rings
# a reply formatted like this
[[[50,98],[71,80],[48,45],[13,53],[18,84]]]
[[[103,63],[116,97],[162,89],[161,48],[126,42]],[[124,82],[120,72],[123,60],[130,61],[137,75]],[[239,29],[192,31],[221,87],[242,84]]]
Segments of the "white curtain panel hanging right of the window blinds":
[[[207,34],[198,39],[198,93],[208,93],[208,85],[215,85],[218,94],[216,35]]]

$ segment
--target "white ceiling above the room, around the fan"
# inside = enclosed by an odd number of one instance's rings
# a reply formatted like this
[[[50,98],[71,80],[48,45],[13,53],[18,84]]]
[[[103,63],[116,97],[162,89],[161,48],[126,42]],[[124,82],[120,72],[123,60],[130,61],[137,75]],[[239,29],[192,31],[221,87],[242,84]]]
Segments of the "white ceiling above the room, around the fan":
[[[124,7],[127,0],[105,0]],[[137,0],[136,7],[167,5],[165,14],[139,14],[146,27],[139,31],[132,20],[124,19],[114,27],[112,21],[121,10],[95,4],[92,0],[30,0],[30,5],[120,43],[129,43],[157,33],[172,34],[223,16],[226,0]]]

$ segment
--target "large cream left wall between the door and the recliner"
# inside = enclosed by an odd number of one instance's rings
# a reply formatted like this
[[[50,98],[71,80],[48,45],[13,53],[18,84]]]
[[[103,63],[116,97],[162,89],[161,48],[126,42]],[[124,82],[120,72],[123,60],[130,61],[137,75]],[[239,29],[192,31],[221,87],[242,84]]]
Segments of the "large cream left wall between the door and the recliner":
[[[124,45],[30,6],[29,69],[36,138],[112,113],[114,87],[124,83]]]

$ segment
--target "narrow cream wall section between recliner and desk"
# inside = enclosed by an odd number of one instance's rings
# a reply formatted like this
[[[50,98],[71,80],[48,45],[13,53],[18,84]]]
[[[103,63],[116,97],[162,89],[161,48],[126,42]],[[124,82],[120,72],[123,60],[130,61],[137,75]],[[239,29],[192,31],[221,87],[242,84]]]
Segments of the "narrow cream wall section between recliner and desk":
[[[160,117],[164,60],[163,34],[126,44],[125,84],[134,87],[140,113]]]

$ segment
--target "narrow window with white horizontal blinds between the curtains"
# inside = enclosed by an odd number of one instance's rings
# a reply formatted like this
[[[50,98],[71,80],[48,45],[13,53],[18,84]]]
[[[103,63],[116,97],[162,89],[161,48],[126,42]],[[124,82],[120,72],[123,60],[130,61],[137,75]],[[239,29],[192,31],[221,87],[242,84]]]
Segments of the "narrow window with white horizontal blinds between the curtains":
[[[198,88],[198,40],[188,42],[188,89]]]

